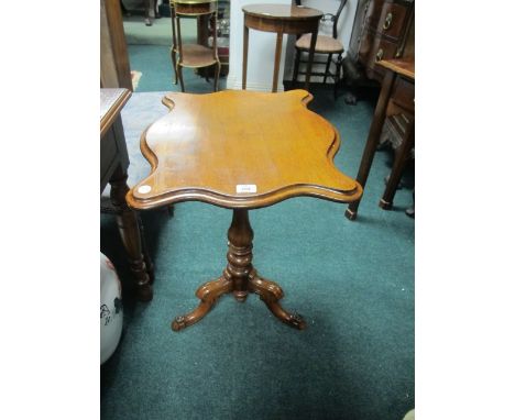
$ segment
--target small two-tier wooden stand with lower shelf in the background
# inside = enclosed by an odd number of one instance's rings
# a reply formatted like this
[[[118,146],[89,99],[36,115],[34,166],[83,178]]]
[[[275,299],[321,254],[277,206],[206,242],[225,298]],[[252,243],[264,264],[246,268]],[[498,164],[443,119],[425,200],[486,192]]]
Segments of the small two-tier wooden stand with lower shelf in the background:
[[[183,67],[201,68],[217,66],[215,71],[213,91],[218,90],[218,79],[220,77],[220,59],[217,49],[217,0],[169,0],[172,13],[172,41],[171,48],[172,63],[175,69],[175,82],[180,82],[180,90],[184,92]],[[199,44],[183,44],[180,36],[180,19],[199,19],[207,15],[212,24],[212,48]]]

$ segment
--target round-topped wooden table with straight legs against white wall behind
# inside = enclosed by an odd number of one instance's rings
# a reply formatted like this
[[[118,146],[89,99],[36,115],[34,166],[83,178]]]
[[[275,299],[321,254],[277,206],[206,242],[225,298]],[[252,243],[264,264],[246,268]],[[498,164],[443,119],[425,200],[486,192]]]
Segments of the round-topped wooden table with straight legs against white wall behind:
[[[318,23],[322,18],[324,12],[316,9],[287,4],[249,4],[243,7],[242,10],[244,14],[242,89],[246,89],[249,27],[251,27],[256,31],[277,33],[277,41],[275,44],[274,79],[272,86],[273,92],[277,91],[278,69],[283,48],[283,34],[311,34],[305,86],[305,89],[308,90],[309,79],[311,77],[313,57],[315,55],[315,45],[317,44]]]

